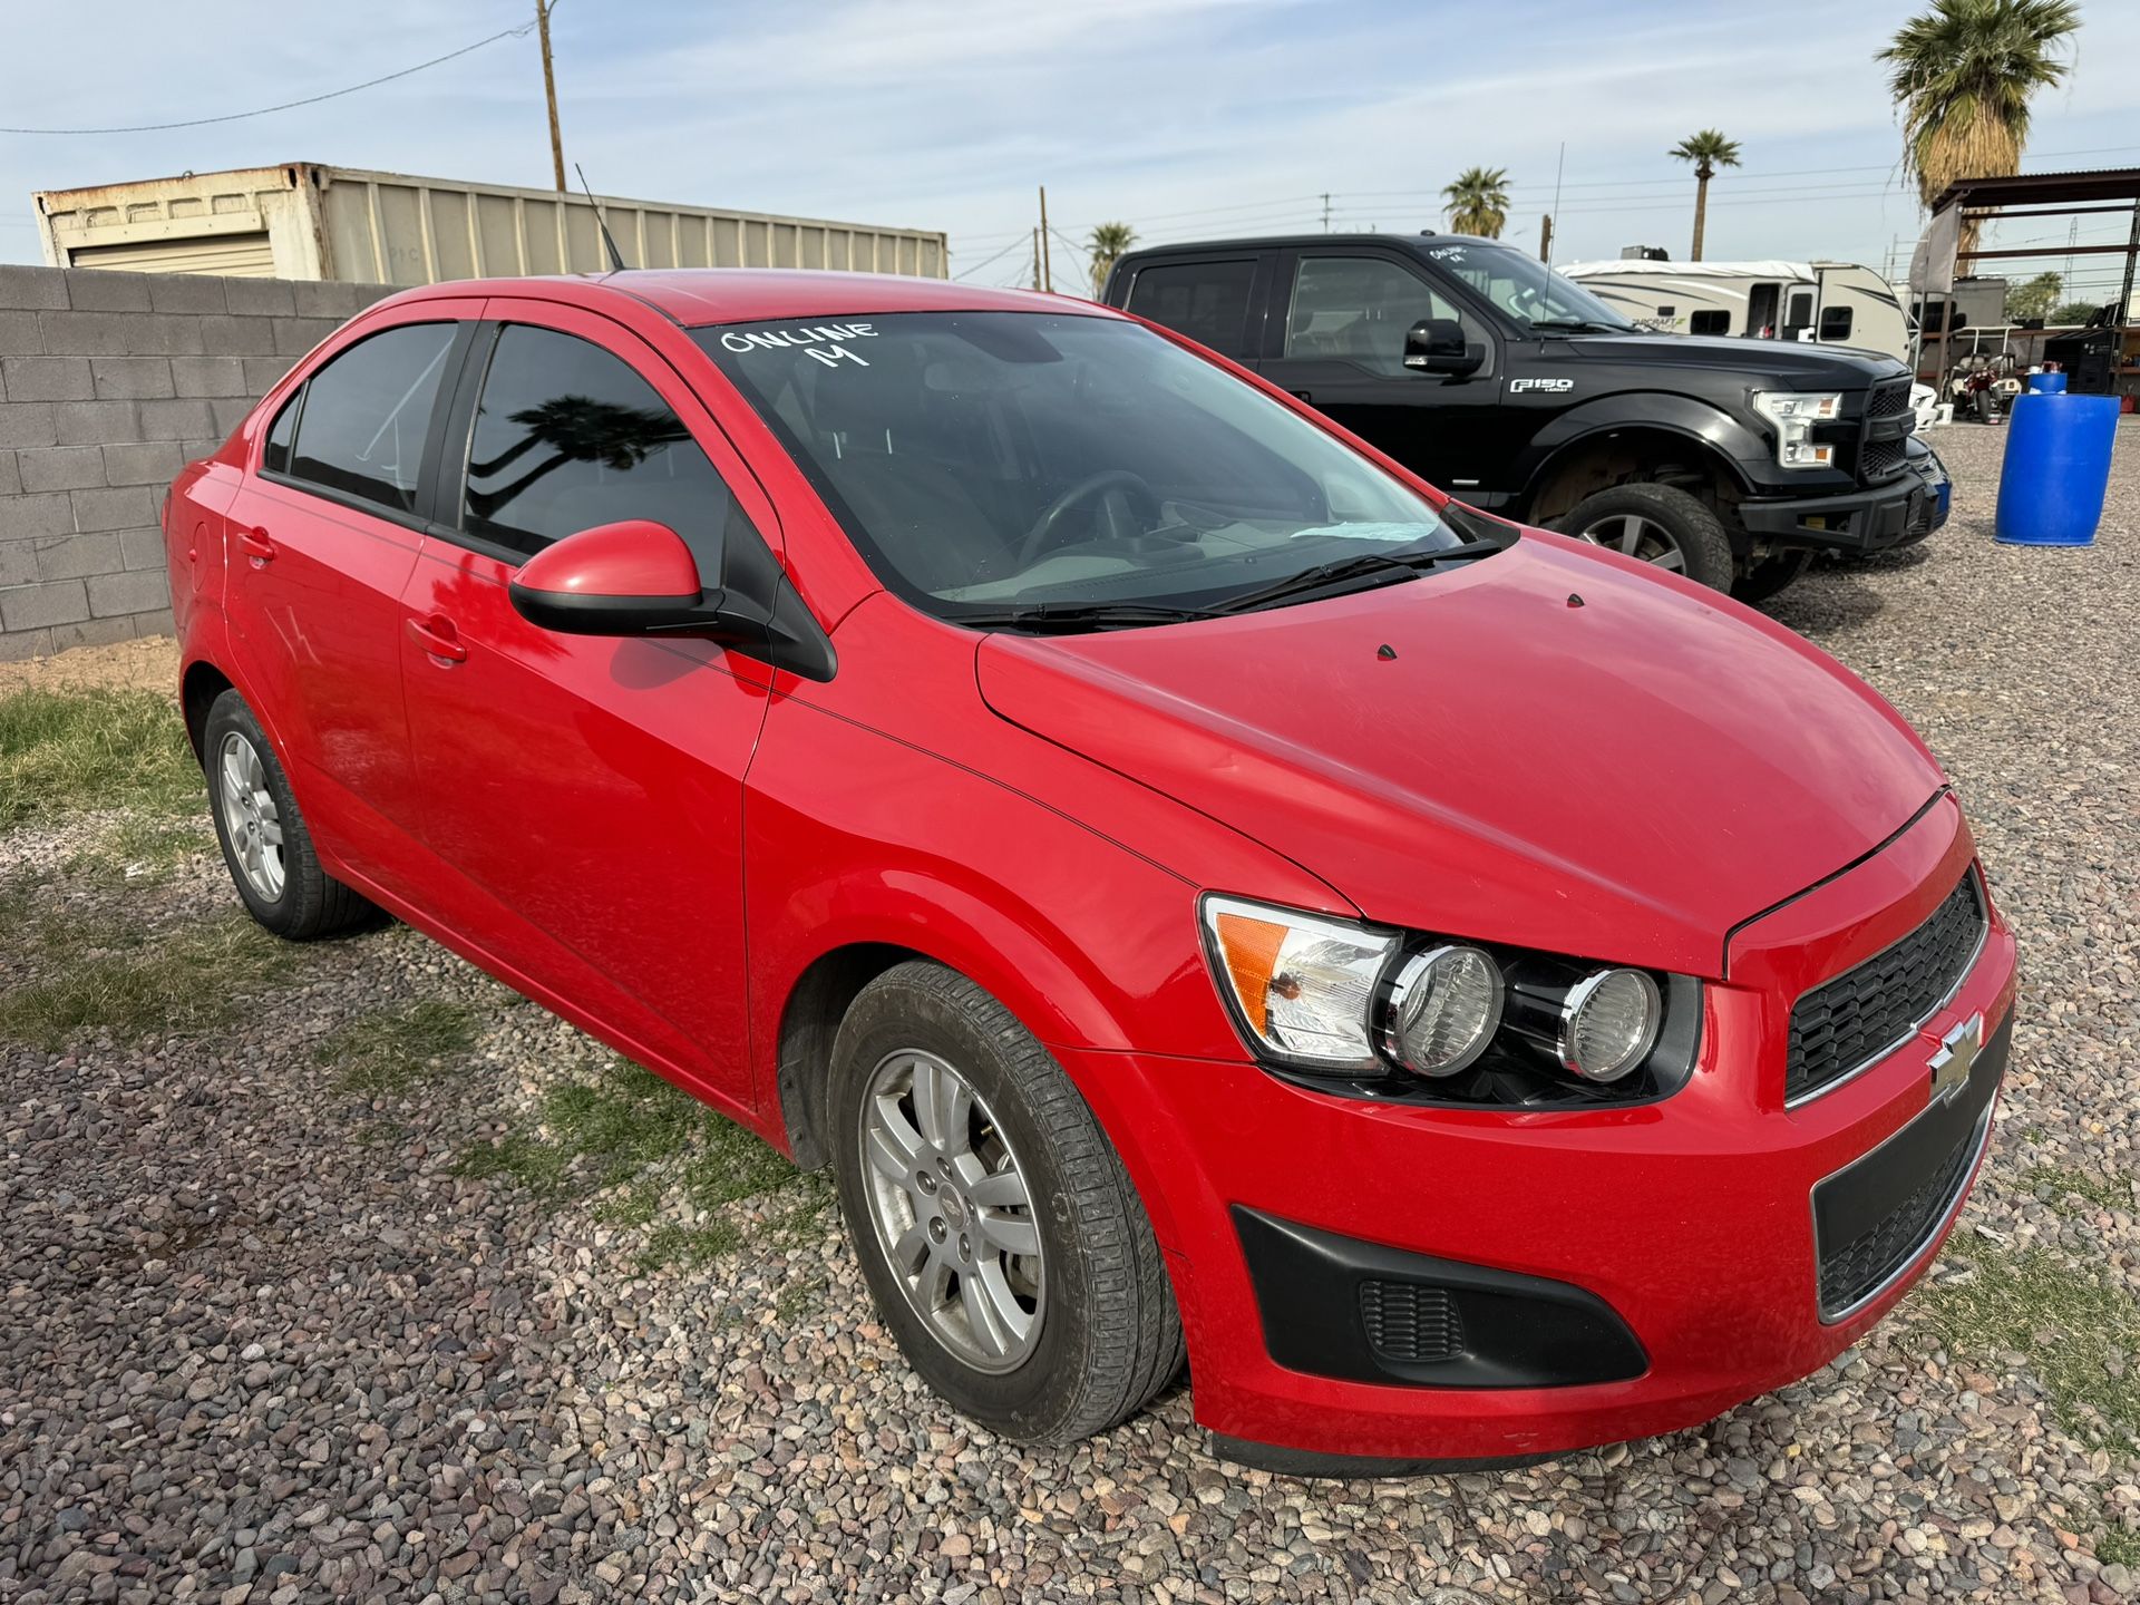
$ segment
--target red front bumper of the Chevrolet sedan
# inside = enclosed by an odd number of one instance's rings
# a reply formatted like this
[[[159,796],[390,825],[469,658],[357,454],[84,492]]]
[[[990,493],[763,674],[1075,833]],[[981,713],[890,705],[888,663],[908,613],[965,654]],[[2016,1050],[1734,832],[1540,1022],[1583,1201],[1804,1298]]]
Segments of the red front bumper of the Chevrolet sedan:
[[[1967,862],[1952,813],[1956,835],[1930,854],[1932,873],[1956,852]],[[1928,869],[1928,852],[1920,843],[1909,873],[1877,856],[1768,916],[1778,927],[1768,950],[1736,937],[1733,978],[1706,989],[1695,1076],[1656,1104],[1421,1109],[1303,1089],[1252,1064],[1064,1053],[1124,1136],[1151,1207],[1190,1342],[1196,1419],[1218,1447],[1278,1470],[1355,1474],[1537,1459],[1697,1425],[1855,1342],[1932,1260],[1982,1164],[2009,1038],[2012,935],[1992,912],[1960,987],[1915,1036],[1789,1109],[1780,1040],[1802,982],[1840,974],[1922,918],[1922,899],[1868,914],[1864,895],[1896,892]],[[1975,1017],[1986,1046],[1971,1102],[1935,1098],[1928,1064],[1941,1036]],[[1939,1196],[1896,1271],[1840,1316],[1823,1314],[1821,1183],[1875,1149],[1896,1158],[1915,1147],[1909,1166],[1930,1166],[1954,1153],[1956,1119],[1973,1145],[1947,1177],[1924,1177]],[[1900,1166],[1858,1175],[1881,1168]],[[1830,1198],[1830,1228],[1862,1203]],[[1273,1260],[1269,1243],[1256,1245],[1273,1228],[1299,1228],[1293,1237],[1323,1254],[1323,1269],[1299,1254]],[[1528,1352],[1549,1355],[1547,1372],[1564,1361],[1581,1374],[1590,1361],[1579,1350],[1601,1333],[1607,1348],[1620,1342],[1601,1312],[1624,1329],[1635,1361],[1611,1348],[1592,1374],[1614,1380],[1558,1385],[1534,1385],[1539,1374],[1519,1367],[1494,1376],[1496,1355],[1470,1385],[1438,1385],[1432,1365],[1374,1380],[1357,1344],[1340,1363],[1314,1346],[1361,1318],[1359,1280],[1342,1275],[1355,1252],[1397,1273],[1406,1256],[1423,1256],[1444,1267],[1436,1273],[1455,1267],[1504,1293],[1543,1295],[1530,1318],[1571,1338],[1532,1333]],[[1554,1288],[1573,1295],[1558,1314]]]

